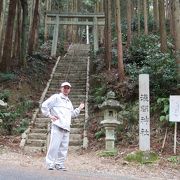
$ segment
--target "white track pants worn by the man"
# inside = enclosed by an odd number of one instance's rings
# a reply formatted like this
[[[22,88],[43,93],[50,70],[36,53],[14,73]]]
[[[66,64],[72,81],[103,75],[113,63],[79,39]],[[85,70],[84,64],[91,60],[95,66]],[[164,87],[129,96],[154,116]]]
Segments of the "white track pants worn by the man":
[[[64,166],[67,157],[70,132],[59,128],[56,125],[51,127],[51,139],[46,155],[46,164],[59,164]]]

